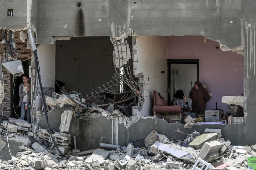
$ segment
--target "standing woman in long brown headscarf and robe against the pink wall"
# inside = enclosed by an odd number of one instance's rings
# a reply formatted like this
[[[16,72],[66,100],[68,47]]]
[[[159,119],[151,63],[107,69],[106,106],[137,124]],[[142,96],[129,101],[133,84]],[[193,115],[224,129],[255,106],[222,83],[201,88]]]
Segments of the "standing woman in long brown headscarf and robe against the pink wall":
[[[188,97],[192,99],[193,112],[200,115],[204,114],[205,103],[210,99],[210,96],[200,81],[195,82],[195,86],[189,92]]]

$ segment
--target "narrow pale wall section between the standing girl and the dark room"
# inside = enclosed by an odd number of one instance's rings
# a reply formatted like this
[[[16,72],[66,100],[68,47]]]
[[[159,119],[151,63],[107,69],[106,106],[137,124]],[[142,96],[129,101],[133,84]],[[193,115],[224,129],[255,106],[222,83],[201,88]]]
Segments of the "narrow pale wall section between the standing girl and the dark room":
[[[55,89],[55,82],[53,80],[55,78],[55,44],[39,45],[37,47],[37,56],[40,64],[44,95],[52,96],[52,92]],[[37,89],[37,91],[40,92],[39,84],[37,84]],[[40,96],[36,100],[36,110],[41,110],[43,106],[42,98]]]

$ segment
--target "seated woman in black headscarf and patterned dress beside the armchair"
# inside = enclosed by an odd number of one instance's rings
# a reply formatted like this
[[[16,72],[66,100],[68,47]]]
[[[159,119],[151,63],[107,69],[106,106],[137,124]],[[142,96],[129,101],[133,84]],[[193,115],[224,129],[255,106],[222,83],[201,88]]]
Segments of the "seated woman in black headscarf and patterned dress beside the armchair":
[[[184,99],[184,100],[182,100]],[[182,90],[177,90],[176,93],[174,94],[174,98],[171,102],[172,106],[182,106],[183,107],[183,115],[185,116],[191,116],[192,118],[198,118],[197,113],[189,112],[189,106],[188,106],[188,101],[187,97],[184,96],[184,93]]]

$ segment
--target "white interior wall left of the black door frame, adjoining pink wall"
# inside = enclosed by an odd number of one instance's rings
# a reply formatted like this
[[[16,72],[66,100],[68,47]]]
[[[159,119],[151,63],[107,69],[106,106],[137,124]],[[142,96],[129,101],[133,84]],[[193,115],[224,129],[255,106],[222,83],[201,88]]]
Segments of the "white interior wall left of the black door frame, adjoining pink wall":
[[[148,84],[147,88],[150,91],[156,90],[167,99],[167,37],[139,36],[137,45],[137,73],[143,72],[145,84]],[[144,95],[147,97],[137,116],[152,115],[153,95],[147,91],[144,91]]]

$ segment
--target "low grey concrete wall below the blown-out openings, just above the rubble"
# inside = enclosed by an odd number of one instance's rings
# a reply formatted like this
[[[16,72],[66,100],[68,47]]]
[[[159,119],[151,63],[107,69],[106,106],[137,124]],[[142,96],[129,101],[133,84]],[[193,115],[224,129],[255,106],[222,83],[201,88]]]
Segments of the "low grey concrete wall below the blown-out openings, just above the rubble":
[[[133,140],[145,138],[153,130],[165,135],[169,140],[177,140],[184,139],[185,136],[175,132],[175,130],[186,133],[192,133],[196,130],[202,134],[205,128],[215,128],[221,129],[222,136],[230,140],[234,145],[252,144],[252,142],[244,139],[246,136],[244,124],[234,124],[232,126],[194,125],[191,129],[185,129],[184,124],[167,123],[163,119],[154,117],[132,117],[132,119],[137,120],[137,122],[125,127],[123,122],[118,123],[103,116],[88,120],[72,118],[68,134],[76,136],[76,145],[81,151],[99,148],[100,143],[123,145]],[[145,146],[144,140],[133,144],[135,147]]]

